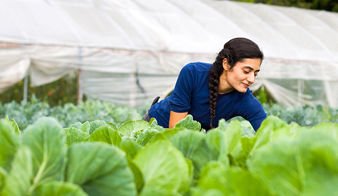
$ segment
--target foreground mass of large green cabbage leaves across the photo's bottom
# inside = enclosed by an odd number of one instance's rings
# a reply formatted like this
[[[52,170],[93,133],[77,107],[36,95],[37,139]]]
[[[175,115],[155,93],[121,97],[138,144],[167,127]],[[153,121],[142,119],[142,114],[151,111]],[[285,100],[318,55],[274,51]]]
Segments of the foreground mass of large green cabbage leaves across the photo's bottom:
[[[338,124],[0,120],[0,195],[337,195]]]

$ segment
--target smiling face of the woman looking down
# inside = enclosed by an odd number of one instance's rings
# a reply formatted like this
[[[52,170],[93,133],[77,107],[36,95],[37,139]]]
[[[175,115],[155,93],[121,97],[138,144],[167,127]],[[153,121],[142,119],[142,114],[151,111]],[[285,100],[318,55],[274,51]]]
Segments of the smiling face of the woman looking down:
[[[227,59],[223,60],[223,78],[220,79],[219,89],[230,92],[234,89],[239,92],[246,92],[248,87],[255,82],[256,76],[260,69],[260,59],[244,59],[237,62],[236,65],[229,70]],[[225,77],[224,77],[225,76]]]

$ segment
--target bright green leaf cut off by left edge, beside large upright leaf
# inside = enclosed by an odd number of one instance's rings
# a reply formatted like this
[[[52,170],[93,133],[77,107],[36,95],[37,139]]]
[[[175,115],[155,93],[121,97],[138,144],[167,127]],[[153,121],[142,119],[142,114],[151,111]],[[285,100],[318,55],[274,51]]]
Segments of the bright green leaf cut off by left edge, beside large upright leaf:
[[[0,120],[0,167],[10,171],[12,159],[19,145],[19,137],[10,122]]]

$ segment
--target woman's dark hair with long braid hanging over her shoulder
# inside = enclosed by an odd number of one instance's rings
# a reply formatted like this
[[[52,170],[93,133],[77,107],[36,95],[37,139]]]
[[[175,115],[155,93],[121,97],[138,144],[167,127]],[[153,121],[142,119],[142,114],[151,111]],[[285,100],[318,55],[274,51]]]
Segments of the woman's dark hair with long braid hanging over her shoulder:
[[[242,62],[244,59],[260,59],[262,61],[264,55],[258,45],[247,38],[234,38],[224,44],[209,72],[210,129],[213,128],[212,119],[215,117],[219,77],[223,72],[224,58],[228,60],[228,64],[230,65],[229,70],[231,70],[237,62]]]

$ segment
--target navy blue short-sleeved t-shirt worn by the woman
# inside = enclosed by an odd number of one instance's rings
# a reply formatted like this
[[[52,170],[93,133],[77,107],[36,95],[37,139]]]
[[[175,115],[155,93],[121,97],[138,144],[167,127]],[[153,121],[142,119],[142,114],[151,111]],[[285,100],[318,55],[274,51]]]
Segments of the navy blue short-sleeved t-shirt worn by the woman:
[[[155,118],[158,125],[168,128],[170,111],[188,112],[194,120],[201,123],[202,128],[208,130],[211,116],[208,87],[211,66],[212,64],[201,62],[184,66],[172,94],[153,105],[149,110],[149,117]],[[251,92],[248,88],[245,93],[235,89],[228,93],[218,94],[212,125],[217,127],[218,121],[222,118],[229,120],[241,116],[257,130],[266,118],[266,113]]]

